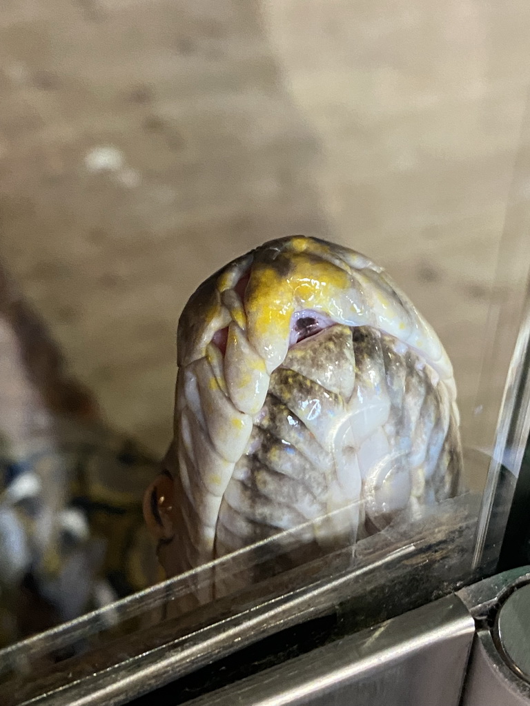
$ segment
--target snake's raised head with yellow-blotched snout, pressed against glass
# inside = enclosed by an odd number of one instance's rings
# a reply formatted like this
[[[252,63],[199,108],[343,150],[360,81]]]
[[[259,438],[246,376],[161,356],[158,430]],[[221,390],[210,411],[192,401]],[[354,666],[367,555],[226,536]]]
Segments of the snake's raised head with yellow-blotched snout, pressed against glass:
[[[167,576],[297,528],[300,562],[461,491],[447,352],[345,246],[284,237],[228,263],[184,306],[177,363],[174,438],[143,505]],[[257,556],[244,582],[264,578]]]

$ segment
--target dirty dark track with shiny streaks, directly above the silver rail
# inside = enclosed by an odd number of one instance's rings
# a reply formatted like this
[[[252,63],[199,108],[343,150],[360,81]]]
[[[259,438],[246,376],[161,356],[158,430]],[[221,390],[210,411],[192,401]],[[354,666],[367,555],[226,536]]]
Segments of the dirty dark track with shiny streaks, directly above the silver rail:
[[[87,645],[57,665],[42,664],[55,658],[46,633],[30,645],[18,643],[3,653],[12,667],[0,686],[3,706],[122,704],[245,647],[244,659],[252,660],[268,636],[316,618],[327,616],[334,626],[318,636],[325,641],[428,604],[469,581],[478,501],[454,498],[437,509],[436,522],[427,516],[407,525],[410,536],[375,535],[355,561],[351,548],[338,551],[114,642],[104,635],[98,643],[98,634],[83,633],[82,621],[63,626],[55,633],[61,649],[69,630],[81,643],[84,634]]]

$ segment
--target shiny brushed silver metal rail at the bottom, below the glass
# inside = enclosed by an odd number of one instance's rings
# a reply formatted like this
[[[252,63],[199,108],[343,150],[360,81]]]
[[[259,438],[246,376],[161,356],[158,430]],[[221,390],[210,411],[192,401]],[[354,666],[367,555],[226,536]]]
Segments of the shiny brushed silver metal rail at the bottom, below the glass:
[[[457,706],[473,633],[452,595],[188,705]]]

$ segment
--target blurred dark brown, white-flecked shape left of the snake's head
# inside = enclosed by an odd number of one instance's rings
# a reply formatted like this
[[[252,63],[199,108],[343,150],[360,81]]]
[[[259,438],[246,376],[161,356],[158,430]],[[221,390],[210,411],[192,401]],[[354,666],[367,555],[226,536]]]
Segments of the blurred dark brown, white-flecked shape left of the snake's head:
[[[0,269],[0,646],[152,585],[158,464],[100,418]]]

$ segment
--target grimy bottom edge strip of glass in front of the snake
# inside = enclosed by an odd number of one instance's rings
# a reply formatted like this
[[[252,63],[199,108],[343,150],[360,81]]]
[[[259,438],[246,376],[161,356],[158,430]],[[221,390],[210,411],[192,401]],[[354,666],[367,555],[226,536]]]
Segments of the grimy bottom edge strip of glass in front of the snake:
[[[392,617],[466,580],[477,510],[478,498],[460,496],[361,540],[355,553],[345,546],[286,571],[282,558],[300,551],[300,536],[284,533],[163,582],[2,650],[6,706],[41,693],[54,693],[58,705],[74,695],[130,698],[146,690],[146,679],[161,686],[303,621],[336,614],[337,635]],[[257,549],[268,579],[197,605],[213,581],[245,576]]]

